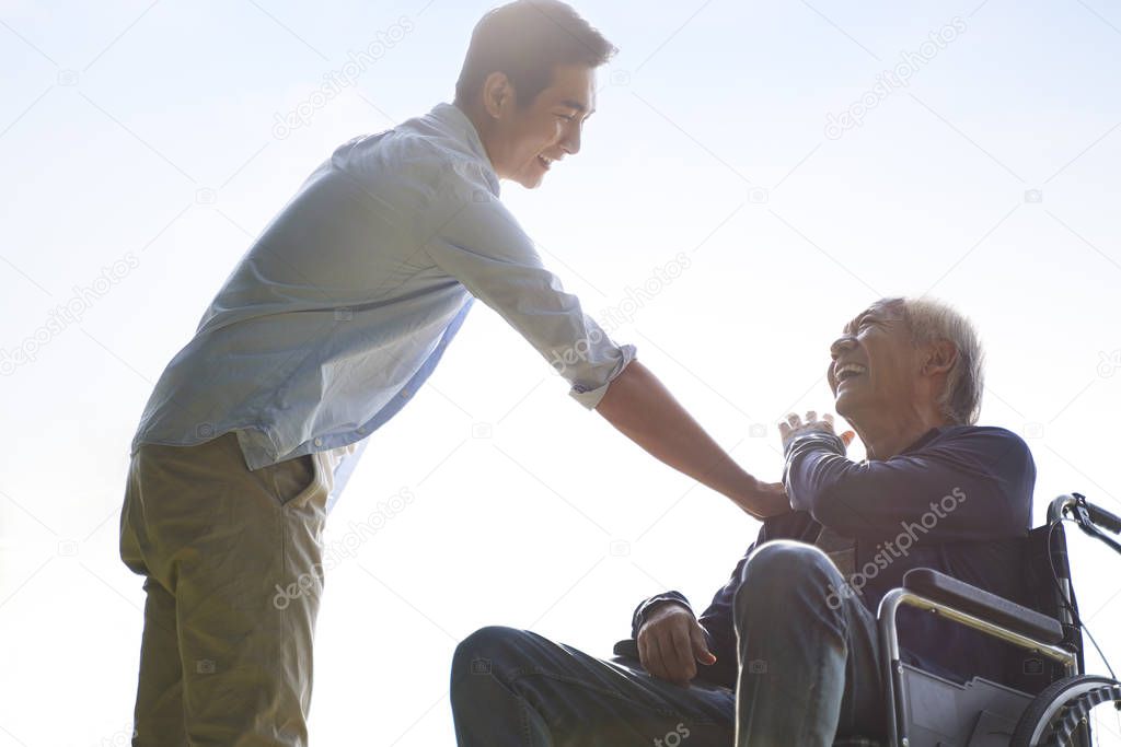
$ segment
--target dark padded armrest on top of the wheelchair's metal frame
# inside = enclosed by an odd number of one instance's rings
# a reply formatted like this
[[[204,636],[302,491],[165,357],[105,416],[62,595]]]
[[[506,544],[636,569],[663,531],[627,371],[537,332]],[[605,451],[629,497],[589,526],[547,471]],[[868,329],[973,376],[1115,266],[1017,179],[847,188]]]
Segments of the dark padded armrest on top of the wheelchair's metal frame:
[[[932,568],[912,568],[904,573],[904,588],[1040,643],[1054,645],[1063,641],[1063,626],[1054,617],[1028,609]]]

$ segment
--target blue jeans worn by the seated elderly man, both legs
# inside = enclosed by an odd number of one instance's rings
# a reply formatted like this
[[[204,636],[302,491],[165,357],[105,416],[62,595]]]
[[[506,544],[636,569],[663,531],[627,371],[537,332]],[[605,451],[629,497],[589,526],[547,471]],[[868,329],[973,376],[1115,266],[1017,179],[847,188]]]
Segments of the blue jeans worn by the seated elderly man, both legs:
[[[683,688],[637,661],[484,627],[452,662],[458,745],[827,747],[836,735],[881,735],[876,619],[854,597],[830,597],[843,585],[813,545],[760,545],[735,596],[734,691],[701,679]]]

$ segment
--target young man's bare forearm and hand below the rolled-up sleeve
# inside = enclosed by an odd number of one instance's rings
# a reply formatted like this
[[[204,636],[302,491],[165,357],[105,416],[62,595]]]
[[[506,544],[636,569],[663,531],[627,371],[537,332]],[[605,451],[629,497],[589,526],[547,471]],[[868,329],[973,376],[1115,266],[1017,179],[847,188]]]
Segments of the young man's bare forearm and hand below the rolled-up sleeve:
[[[744,471],[638,361],[611,381],[595,409],[649,454],[756,519],[790,511],[780,483],[762,483]]]

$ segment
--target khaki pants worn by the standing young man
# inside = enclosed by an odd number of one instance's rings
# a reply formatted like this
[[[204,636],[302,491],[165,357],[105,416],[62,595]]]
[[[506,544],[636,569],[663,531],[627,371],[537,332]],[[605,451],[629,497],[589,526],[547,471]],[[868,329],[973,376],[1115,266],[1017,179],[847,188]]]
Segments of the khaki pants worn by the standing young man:
[[[304,746],[327,454],[250,471],[237,435],[132,457],[121,560],[145,577],[135,746]]]

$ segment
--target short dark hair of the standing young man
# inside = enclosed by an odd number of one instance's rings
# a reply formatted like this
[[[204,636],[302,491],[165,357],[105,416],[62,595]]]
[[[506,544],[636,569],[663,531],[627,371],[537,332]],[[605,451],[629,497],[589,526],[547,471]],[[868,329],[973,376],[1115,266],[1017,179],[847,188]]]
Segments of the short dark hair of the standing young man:
[[[618,52],[572,7],[560,0],[515,0],[491,10],[475,25],[455,101],[467,104],[487,76],[504,73],[529,105],[553,81],[557,65],[599,67]]]

